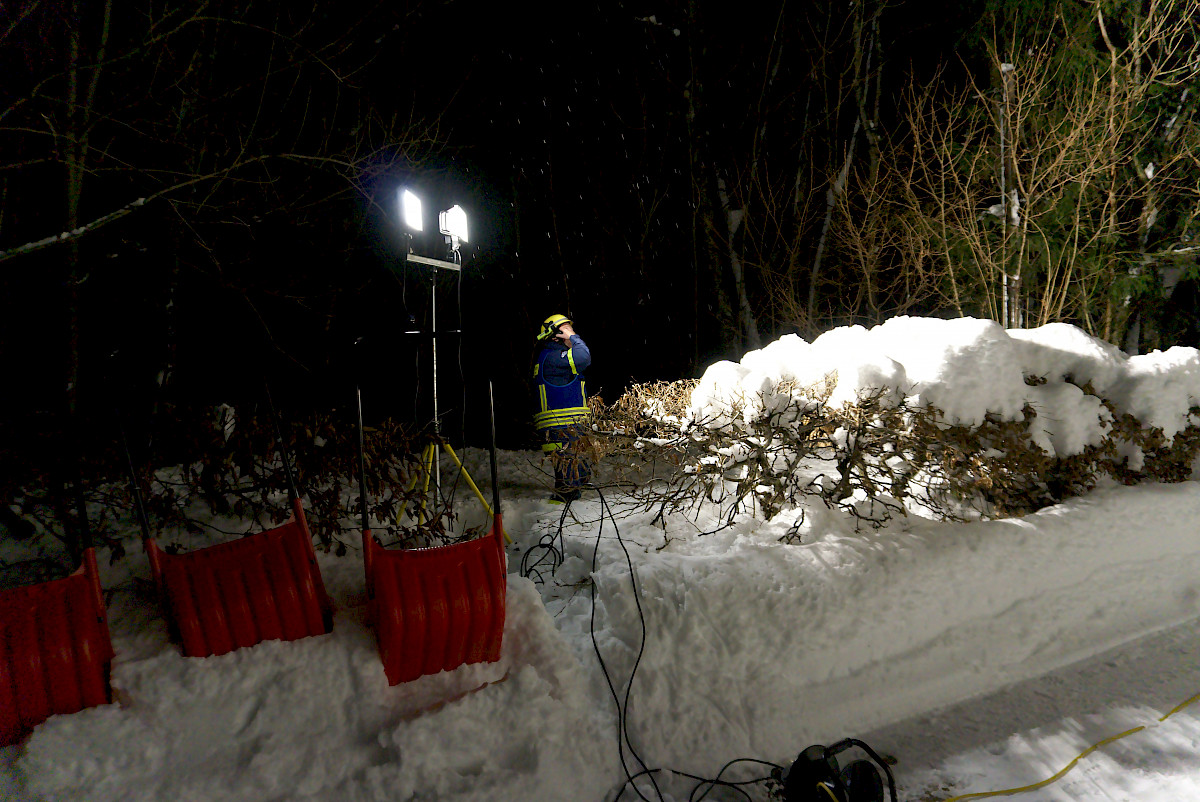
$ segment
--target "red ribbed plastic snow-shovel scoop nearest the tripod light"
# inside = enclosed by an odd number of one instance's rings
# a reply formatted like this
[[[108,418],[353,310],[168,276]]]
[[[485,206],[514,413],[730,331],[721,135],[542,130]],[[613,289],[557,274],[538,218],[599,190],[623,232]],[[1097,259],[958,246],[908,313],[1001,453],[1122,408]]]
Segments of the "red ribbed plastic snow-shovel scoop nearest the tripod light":
[[[364,532],[362,546],[388,684],[500,659],[508,574],[499,515],[476,540],[389,551]]]

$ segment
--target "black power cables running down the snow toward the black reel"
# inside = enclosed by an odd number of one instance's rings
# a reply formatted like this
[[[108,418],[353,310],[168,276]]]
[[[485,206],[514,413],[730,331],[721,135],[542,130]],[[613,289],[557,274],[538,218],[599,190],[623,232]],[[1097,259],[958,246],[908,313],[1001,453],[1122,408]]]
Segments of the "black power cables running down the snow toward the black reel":
[[[670,772],[672,774],[678,774],[680,777],[688,777],[689,779],[695,779],[696,780],[696,785],[692,786],[691,794],[688,795],[689,802],[701,802],[701,800],[703,800],[704,797],[707,797],[709,795],[709,792],[712,792],[712,790],[714,788],[728,788],[728,789],[738,791],[746,800],[750,800],[751,798],[750,795],[746,794],[746,791],[742,786],[744,786],[744,785],[757,785],[760,783],[770,782],[770,780],[775,779],[775,776],[770,774],[770,776],[767,776],[767,777],[760,777],[760,778],[749,779],[749,780],[730,782],[730,780],[721,779],[721,776],[726,772],[726,770],[728,770],[730,767],[732,767],[732,766],[734,766],[737,764],[740,764],[740,762],[754,762],[754,764],[758,764],[758,765],[762,765],[762,766],[770,766],[772,768],[776,770],[778,772],[782,772],[784,767],[779,766],[776,764],[773,764],[773,762],[770,762],[768,760],[758,760],[757,758],[737,758],[737,759],[731,760],[727,764],[725,764],[725,766],[721,767],[721,771],[718,772],[716,777],[714,777],[714,778],[706,778],[706,777],[698,777],[696,774],[690,774],[688,772],[682,772],[682,771],[676,771],[676,770],[670,770],[670,768],[649,768],[646,765],[646,761],[642,759],[642,756],[637,753],[636,748],[634,747],[632,740],[629,737],[629,695],[630,695],[630,692],[634,688],[634,677],[637,675],[637,668],[641,665],[641,663],[642,663],[642,656],[646,652],[646,634],[647,634],[647,630],[646,630],[646,614],[642,610],[642,597],[641,597],[641,593],[638,592],[638,588],[637,588],[637,573],[634,570],[634,559],[629,555],[629,547],[625,545],[625,540],[620,537],[620,527],[617,526],[617,517],[612,514],[612,509],[608,507],[608,499],[605,498],[604,491],[601,491],[595,485],[588,485],[588,486],[590,489],[595,490],[596,493],[599,493],[599,496],[600,496],[600,507],[601,507],[601,511],[600,511],[600,527],[596,531],[596,541],[595,541],[595,546],[592,550],[592,615],[590,615],[590,620],[588,622],[588,629],[589,629],[589,633],[592,635],[592,647],[595,650],[596,659],[600,662],[600,670],[601,670],[601,672],[604,672],[605,682],[608,686],[608,693],[612,695],[613,704],[617,707],[617,754],[620,758],[620,767],[625,772],[625,782],[622,783],[620,790],[617,792],[617,797],[616,797],[616,800],[613,802],[619,802],[619,800],[625,795],[625,789],[630,788],[630,786],[632,786],[634,792],[637,794],[638,798],[641,798],[642,802],[655,802],[654,800],[647,798],[646,795],[642,794],[641,789],[637,788],[637,780],[640,778],[642,778],[642,777],[648,777],[649,778],[650,784],[654,786],[654,792],[658,796],[658,802],[665,802],[665,797],[662,796],[662,790],[659,788],[658,780],[654,777],[658,772],[661,772],[661,771],[667,771],[667,772]],[[562,546],[563,521],[565,521],[565,519],[566,519],[566,511],[568,511],[568,509],[570,509],[570,502],[568,502],[566,509],[563,510],[563,515],[559,519],[558,532],[554,535],[550,535],[548,549],[553,549],[554,547],[553,546],[553,541],[554,541],[556,538],[557,538],[557,540],[559,543],[559,546]],[[628,682],[625,684],[624,699],[622,699],[620,695],[617,693],[617,688],[616,688],[616,686],[613,684],[613,681],[612,681],[612,675],[608,674],[608,666],[607,666],[607,664],[604,660],[604,654],[601,654],[601,652],[600,652],[600,644],[596,641],[596,629],[595,629],[596,581],[595,581],[595,573],[596,573],[596,558],[598,558],[598,556],[600,553],[600,540],[604,537],[604,520],[605,520],[605,516],[607,516],[608,520],[612,521],[612,528],[613,528],[613,532],[616,533],[616,535],[617,535],[617,543],[620,545],[620,550],[625,555],[625,564],[629,568],[629,581],[630,581],[630,585],[632,586],[632,591],[634,591],[634,605],[637,609],[637,621],[638,621],[638,626],[641,627],[641,634],[640,634],[640,638],[638,638],[638,647],[637,647],[637,657],[634,659],[634,668],[630,669],[630,671],[629,671],[629,680],[628,680]],[[544,538],[544,540],[545,540],[545,538]],[[539,545],[541,545],[541,544],[539,544]],[[530,549],[530,551],[532,551],[532,549]],[[562,558],[560,558],[562,552],[559,551],[557,553],[559,555],[559,564],[560,564],[562,563]],[[528,555],[528,552],[527,552],[527,555]],[[625,761],[625,749],[626,749],[626,747],[629,749],[630,755],[632,755],[634,759],[637,761],[637,765],[641,766],[641,771],[638,771],[637,773],[631,773],[630,768],[629,768],[629,764]],[[704,789],[703,794],[701,794],[700,796],[696,796],[696,794],[700,792],[701,789]]]

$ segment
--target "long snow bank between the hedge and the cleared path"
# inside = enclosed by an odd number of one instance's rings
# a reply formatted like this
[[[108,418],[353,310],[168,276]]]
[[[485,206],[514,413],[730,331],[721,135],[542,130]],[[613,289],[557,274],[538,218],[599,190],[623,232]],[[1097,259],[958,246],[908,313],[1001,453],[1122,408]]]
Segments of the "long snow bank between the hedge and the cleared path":
[[[587,523],[566,532],[574,557],[542,588],[554,610],[562,588],[589,573],[598,507],[578,510]],[[1024,519],[910,520],[880,532],[805,513],[803,545],[779,540],[794,513],[704,537],[685,521],[659,531],[649,514],[620,521],[647,628],[629,728],[649,764],[712,776],[740,755],[785,762],[810,743],[1200,615],[1195,483],[1108,486]],[[629,568],[608,532],[592,574],[594,626],[620,689],[642,638]],[[594,662],[592,612],[575,594],[556,617],[580,659]]]

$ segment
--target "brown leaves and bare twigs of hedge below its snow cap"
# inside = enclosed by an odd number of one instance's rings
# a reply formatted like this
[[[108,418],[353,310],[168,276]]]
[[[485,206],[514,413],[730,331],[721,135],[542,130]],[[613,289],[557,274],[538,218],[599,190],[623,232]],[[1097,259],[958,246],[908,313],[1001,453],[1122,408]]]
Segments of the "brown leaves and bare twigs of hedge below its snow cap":
[[[1007,517],[1085,493],[1103,475],[1180,481],[1200,455],[1200,426],[1168,441],[1132,415],[1114,414],[1100,443],[1057,457],[1033,441],[1030,406],[1024,421],[988,415],[962,426],[931,406],[884,403],[883,393],[830,408],[829,382],[779,385],[776,402],[754,407],[763,412],[745,425],[709,426],[689,417],[696,384],[640,384],[595,408],[606,467],[637,504],[660,515],[713,503],[722,520],[742,511],[770,517],[815,496],[870,526],[918,507],[943,520]],[[778,403],[788,394],[791,403]],[[1200,420],[1200,409],[1193,412]],[[1130,453],[1142,457],[1135,467]]]

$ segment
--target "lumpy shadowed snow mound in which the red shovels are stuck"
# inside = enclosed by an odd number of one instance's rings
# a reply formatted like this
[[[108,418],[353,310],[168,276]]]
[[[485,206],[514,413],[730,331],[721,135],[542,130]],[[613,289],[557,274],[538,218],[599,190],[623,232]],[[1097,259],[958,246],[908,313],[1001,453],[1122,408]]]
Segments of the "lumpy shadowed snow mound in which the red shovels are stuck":
[[[612,783],[612,724],[528,580],[509,577],[499,663],[389,687],[360,562],[320,561],[332,633],[222,657],[182,657],[146,600],[118,599],[119,704],[40,725],[19,798],[553,802],[568,783]]]

